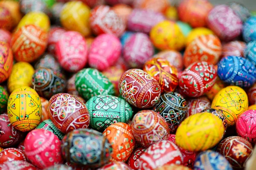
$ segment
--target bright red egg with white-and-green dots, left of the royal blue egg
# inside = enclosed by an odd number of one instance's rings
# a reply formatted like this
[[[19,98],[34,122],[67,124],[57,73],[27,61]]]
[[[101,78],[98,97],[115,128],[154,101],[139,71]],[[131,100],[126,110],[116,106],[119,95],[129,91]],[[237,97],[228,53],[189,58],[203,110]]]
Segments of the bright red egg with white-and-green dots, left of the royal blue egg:
[[[180,92],[189,97],[200,97],[212,88],[216,78],[217,72],[212,64],[204,61],[192,63],[180,75]]]

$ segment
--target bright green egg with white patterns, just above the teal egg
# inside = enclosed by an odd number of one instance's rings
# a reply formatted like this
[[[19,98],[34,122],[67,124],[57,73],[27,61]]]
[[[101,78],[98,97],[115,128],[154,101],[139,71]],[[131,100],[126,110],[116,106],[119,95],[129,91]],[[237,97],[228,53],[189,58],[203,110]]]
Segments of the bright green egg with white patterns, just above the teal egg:
[[[82,69],[76,74],[76,90],[86,101],[96,95],[114,95],[111,81],[97,69]]]

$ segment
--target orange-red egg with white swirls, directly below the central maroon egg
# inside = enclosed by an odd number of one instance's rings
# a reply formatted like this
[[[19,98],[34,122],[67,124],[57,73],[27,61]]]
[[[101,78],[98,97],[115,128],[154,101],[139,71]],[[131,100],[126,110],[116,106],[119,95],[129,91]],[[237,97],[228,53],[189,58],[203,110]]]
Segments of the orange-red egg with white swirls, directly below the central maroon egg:
[[[131,129],[136,141],[144,147],[167,140],[170,134],[164,118],[153,110],[137,112],[132,119]],[[161,133],[158,133],[160,131]]]

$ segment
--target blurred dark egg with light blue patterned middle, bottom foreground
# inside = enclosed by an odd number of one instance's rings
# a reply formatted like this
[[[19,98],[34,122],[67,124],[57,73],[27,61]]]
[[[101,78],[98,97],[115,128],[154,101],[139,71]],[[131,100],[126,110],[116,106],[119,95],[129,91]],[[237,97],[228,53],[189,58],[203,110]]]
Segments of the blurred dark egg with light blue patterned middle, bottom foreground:
[[[108,139],[96,130],[73,130],[67,133],[61,142],[62,156],[67,162],[101,167],[112,156]]]

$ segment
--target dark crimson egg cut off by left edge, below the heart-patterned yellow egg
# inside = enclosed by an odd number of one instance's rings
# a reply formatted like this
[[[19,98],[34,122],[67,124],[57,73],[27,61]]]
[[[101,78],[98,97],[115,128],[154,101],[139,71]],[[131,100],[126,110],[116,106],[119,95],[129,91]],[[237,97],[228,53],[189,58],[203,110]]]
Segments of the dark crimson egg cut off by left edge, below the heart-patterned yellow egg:
[[[23,133],[12,126],[6,113],[0,115],[0,132],[0,147],[15,146],[23,138]]]

